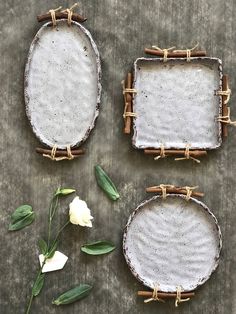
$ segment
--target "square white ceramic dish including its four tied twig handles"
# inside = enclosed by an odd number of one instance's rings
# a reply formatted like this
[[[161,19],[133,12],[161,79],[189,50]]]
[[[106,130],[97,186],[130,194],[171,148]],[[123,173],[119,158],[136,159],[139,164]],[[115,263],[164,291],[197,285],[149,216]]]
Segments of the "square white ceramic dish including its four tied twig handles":
[[[196,157],[221,146],[232,124],[228,77],[221,60],[206,57],[205,51],[169,55],[134,62],[123,86],[124,132],[133,128],[133,146],[146,154],[192,156],[198,161]]]

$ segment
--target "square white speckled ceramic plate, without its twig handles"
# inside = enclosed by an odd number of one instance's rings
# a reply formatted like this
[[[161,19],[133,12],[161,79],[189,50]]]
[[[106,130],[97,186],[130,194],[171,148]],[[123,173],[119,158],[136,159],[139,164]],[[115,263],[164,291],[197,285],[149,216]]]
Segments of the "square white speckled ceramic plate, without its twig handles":
[[[214,149],[221,145],[221,61],[140,58],[134,65],[133,145]]]

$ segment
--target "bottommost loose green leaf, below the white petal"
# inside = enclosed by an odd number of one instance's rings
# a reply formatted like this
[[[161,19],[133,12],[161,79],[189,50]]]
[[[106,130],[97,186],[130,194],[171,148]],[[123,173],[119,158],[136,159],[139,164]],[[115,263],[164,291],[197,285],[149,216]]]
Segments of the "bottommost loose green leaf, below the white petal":
[[[87,284],[79,285],[60,295],[56,300],[52,302],[52,304],[63,305],[81,300],[89,295],[92,288],[93,288],[92,286]]]

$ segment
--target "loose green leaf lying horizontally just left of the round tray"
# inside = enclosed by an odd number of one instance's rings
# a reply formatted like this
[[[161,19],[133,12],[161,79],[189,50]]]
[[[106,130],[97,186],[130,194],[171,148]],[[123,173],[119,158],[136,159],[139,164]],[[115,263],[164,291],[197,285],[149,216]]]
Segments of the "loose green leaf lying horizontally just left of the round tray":
[[[115,245],[108,241],[97,241],[89,244],[84,244],[81,251],[89,255],[102,255],[115,250]]]

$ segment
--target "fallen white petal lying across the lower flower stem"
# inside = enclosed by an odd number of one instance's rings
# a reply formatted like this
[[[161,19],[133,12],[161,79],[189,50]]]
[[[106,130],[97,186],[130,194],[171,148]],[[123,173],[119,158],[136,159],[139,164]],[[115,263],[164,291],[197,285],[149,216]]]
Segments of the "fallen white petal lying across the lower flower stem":
[[[46,260],[46,263],[44,264],[43,269],[42,269],[42,273],[48,273],[50,271],[62,269],[65,266],[67,260],[68,260],[68,257],[65,254],[59,251],[56,251],[52,258],[49,258]],[[44,255],[40,254],[39,262],[40,262],[41,267],[43,265],[43,261],[44,261]]]

